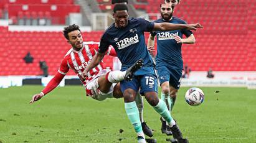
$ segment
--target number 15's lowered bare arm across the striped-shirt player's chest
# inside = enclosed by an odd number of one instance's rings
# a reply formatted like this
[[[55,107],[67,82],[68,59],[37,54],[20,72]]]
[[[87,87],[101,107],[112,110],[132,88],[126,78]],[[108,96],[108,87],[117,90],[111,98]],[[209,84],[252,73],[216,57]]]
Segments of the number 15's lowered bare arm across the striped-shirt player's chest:
[[[98,64],[100,64],[100,62],[102,62],[102,59],[104,58],[104,56],[105,56],[105,53],[97,52],[96,55],[93,56],[93,58],[92,58],[91,62],[89,63],[89,65],[83,71],[81,77],[83,79],[87,78],[88,71],[92,70],[92,68],[95,68]]]

